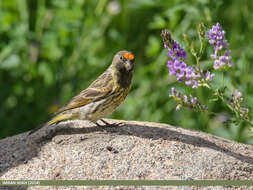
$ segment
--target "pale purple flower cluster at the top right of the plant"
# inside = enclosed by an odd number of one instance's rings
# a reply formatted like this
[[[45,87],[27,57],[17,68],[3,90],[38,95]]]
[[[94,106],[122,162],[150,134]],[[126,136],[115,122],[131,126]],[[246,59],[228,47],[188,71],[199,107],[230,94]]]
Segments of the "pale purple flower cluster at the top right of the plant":
[[[209,43],[214,47],[214,53],[211,55],[211,58],[214,60],[213,68],[217,70],[232,67],[231,51],[225,39],[225,31],[219,23],[209,30],[207,38],[209,39]]]

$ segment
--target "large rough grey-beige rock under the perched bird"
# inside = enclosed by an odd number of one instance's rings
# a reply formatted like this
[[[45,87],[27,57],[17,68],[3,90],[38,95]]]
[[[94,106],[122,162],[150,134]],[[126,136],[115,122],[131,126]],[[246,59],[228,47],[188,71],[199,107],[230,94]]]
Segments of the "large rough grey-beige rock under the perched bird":
[[[0,179],[251,179],[253,146],[166,124],[67,121],[0,140]]]

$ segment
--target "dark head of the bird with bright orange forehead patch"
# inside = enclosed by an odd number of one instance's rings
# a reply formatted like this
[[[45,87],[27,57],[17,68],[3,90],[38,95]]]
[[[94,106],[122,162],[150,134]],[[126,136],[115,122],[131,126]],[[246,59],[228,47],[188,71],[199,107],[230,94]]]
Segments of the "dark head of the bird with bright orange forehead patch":
[[[113,58],[113,65],[120,72],[131,72],[134,69],[134,55],[129,51],[119,51]]]

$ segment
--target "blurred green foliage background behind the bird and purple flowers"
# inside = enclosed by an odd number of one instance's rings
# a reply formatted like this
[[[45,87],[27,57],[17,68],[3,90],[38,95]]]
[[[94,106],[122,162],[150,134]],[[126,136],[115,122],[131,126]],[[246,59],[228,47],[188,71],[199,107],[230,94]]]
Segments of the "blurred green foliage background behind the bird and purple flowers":
[[[183,33],[197,41],[198,23],[220,22],[235,63],[225,74],[226,85],[242,91],[252,107],[252,20],[250,0],[1,0],[0,138],[50,119],[126,49],[136,56],[133,86],[110,117],[163,122],[253,144],[249,127],[222,124],[230,113],[220,102],[208,104],[220,117],[175,111],[168,96],[172,86],[206,104],[211,96],[206,89],[185,90],[168,75],[160,38],[168,28],[181,44]],[[202,61],[211,51],[207,48]],[[217,73],[214,84],[220,83]]]

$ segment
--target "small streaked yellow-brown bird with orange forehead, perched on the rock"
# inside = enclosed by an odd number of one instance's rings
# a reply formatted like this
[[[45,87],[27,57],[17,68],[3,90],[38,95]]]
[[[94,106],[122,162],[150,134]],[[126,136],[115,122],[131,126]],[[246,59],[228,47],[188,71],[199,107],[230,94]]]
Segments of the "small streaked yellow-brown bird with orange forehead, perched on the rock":
[[[91,85],[73,97],[68,104],[56,112],[56,116],[30,131],[29,135],[42,127],[65,120],[81,119],[97,123],[111,114],[126,98],[131,88],[135,58],[129,51],[119,51],[112,64]],[[99,125],[100,126],[100,125]]]

